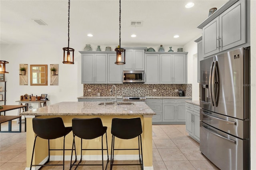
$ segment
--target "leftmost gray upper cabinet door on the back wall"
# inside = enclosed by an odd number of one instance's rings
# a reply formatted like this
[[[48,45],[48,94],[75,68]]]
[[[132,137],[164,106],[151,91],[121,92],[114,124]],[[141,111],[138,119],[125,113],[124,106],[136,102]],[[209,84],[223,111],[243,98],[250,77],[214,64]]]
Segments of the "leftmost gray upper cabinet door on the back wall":
[[[82,54],[82,84],[94,83],[94,54]]]

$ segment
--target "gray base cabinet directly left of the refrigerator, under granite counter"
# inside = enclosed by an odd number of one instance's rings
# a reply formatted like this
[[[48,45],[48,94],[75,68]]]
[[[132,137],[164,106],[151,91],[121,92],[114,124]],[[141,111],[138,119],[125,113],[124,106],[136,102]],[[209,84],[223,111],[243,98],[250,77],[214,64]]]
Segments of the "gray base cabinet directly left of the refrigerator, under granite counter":
[[[200,142],[200,107],[186,103],[186,131]]]

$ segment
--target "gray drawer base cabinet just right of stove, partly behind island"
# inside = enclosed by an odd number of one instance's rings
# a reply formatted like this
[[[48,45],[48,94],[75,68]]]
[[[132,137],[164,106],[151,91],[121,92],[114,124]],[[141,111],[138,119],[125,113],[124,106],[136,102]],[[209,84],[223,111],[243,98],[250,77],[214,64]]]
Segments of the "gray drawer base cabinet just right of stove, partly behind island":
[[[146,104],[156,113],[152,122],[162,122],[162,99],[146,99]]]

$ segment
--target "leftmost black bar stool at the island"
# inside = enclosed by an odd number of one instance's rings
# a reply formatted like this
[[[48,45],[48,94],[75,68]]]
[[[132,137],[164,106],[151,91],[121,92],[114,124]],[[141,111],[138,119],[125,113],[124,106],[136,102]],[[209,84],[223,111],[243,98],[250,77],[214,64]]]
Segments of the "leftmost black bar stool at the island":
[[[72,127],[65,127],[64,123],[60,117],[46,118],[46,119],[33,118],[32,124],[33,124],[33,130],[34,130],[34,133],[36,134],[36,137],[34,140],[30,170],[31,170],[32,166],[63,166],[63,170],[64,170],[65,150],[71,150],[71,149],[65,149],[65,136],[69,132],[72,131]],[[48,140],[48,160],[46,161],[46,163],[48,163],[50,160],[50,150],[63,150],[63,164],[41,164],[41,165],[35,164],[35,165],[32,165],[37,136]],[[60,138],[60,137],[64,137],[63,149],[50,149],[50,139],[56,139],[56,138]],[[76,154],[76,152],[75,152],[75,154]]]

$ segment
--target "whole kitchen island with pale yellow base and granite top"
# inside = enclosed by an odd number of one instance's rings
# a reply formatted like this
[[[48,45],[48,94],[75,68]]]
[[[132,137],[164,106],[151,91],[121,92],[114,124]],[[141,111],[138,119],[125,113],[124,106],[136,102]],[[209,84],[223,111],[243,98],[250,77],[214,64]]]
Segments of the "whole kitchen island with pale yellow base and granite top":
[[[54,105],[40,107],[27,112],[20,113],[25,115],[27,120],[27,164],[26,169],[30,167],[32,149],[35,134],[32,127],[32,118],[50,118],[61,117],[66,127],[72,126],[73,118],[95,118],[100,117],[103,126],[107,126],[108,137],[108,154],[110,158],[111,150],[111,122],[114,117],[118,118],[134,118],[140,117],[142,121],[142,147],[143,161],[145,170],[153,170],[152,165],[152,116],[155,115],[144,102],[132,102],[134,105],[98,105],[100,102],[61,102]],[[132,125],[131,125],[132,126]],[[42,127],[44,128],[44,127]],[[81,129],[82,130],[82,129]],[[72,132],[66,136],[65,148],[72,148]],[[104,148],[106,148],[105,135],[103,138]],[[130,140],[115,140],[115,148],[136,148],[138,147],[138,138]],[[47,140],[38,138],[34,152],[33,164],[44,164],[48,158]],[[80,139],[76,138],[76,150],[78,159],[80,159]],[[63,147],[63,138],[50,140],[50,146],[61,149]],[[101,148],[101,138],[86,140],[83,142],[83,148]],[[70,160],[71,151],[65,151],[65,160]],[[74,158],[74,156],[73,156]],[[104,151],[104,160],[107,158],[107,152]],[[101,160],[101,151],[83,151],[83,160]],[[118,150],[115,152],[115,160],[137,160],[138,152],[134,150]],[[62,160],[62,151],[51,151],[50,160]]]

